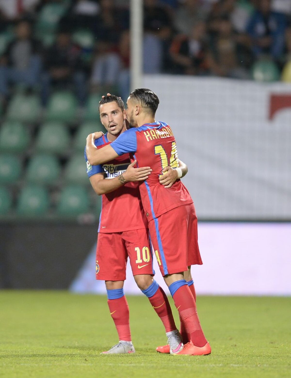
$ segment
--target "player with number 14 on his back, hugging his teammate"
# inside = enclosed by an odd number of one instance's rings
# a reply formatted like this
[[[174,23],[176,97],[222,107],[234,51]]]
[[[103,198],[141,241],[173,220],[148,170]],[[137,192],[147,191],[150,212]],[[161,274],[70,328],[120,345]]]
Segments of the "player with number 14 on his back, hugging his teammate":
[[[101,164],[124,153],[132,154],[139,166],[150,166],[149,178],[140,186],[142,206],[160,270],[190,341],[178,355],[207,355],[210,344],[202,331],[196,303],[184,272],[193,264],[202,264],[197,237],[197,218],[193,200],[181,180],[170,188],[159,183],[162,170],[170,165],[178,171],[176,141],[170,126],[155,121],[159,99],[149,89],[136,89],[127,99],[127,119],[132,127],[110,146],[98,150],[88,135],[86,144],[90,164]]]

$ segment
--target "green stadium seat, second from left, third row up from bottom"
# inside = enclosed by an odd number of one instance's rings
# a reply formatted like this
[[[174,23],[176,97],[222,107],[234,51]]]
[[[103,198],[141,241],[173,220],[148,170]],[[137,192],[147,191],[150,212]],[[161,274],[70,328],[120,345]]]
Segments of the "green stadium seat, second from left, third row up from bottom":
[[[64,153],[69,147],[70,135],[61,122],[46,122],[38,133],[35,148],[39,152]]]

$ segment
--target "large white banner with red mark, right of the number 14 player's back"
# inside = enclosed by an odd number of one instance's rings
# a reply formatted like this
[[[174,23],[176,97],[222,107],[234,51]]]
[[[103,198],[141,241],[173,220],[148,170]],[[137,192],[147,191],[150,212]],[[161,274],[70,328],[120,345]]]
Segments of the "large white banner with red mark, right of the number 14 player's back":
[[[198,219],[291,220],[291,84],[146,75]]]

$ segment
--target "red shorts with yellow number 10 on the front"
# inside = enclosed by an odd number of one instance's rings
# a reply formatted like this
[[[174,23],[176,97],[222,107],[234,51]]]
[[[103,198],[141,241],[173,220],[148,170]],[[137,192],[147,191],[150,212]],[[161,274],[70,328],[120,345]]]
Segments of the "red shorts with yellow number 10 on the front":
[[[124,281],[128,257],[133,276],[155,274],[147,229],[112,234],[100,232],[96,249],[96,279]]]

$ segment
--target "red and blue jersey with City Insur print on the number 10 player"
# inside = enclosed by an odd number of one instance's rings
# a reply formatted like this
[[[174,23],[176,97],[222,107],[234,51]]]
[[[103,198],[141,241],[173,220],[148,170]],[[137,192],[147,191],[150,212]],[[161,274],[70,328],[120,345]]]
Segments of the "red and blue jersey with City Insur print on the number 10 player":
[[[110,144],[107,134],[95,140],[95,146],[102,148]],[[89,177],[103,173],[105,180],[117,177],[126,171],[130,164],[129,154],[123,154],[107,163],[91,166],[86,156],[87,174]],[[139,193],[139,183],[126,183],[113,192],[102,195],[102,208],[98,232],[111,233],[147,228]]]

